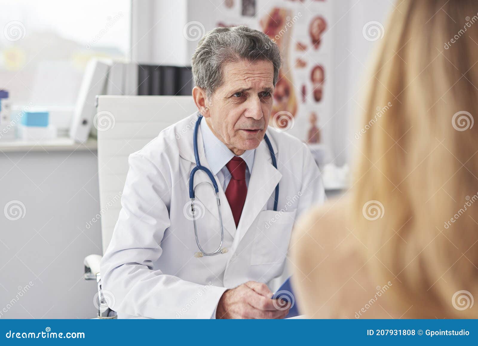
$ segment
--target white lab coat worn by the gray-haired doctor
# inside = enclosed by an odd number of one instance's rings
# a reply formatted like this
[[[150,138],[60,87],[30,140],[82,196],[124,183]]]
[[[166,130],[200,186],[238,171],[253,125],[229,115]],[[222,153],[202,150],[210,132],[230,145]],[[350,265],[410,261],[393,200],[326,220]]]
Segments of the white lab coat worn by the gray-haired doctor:
[[[282,274],[295,219],[325,199],[319,170],[308,148],[293,136],[267,130],[256,149],[246,202],[236,229],[219,186],[225,254],[196,258],[189,199],[195,166],[196,113],[163,130],[130,155],[122,209],[101,261],[102,289],[119,318],[211,318],[222,293],[246,281],[268,283]],[[198,151],[208,167],[199,130]],[[209,167],[208,167],[209,168]],[[216,177],[217,179],[217,177]],[[217,202],[206,173],[194,178],[198,235],[210,252],[220,242]],[[279,184],[278,211],[273,211]],[[201,205],[202,204],[202,205]]]

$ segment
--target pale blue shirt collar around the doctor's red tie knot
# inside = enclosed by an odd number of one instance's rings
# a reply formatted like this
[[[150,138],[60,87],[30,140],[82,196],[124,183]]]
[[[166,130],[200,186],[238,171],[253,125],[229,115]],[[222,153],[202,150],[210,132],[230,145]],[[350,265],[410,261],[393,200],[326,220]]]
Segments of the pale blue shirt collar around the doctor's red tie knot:
[[[201,135],[204,142],[204,152],[207,163],[211,168],[211,172],[216,175],[235,155],[229,148],[220,141],[216,135],[209,129],[206,119],[203,119],[199,124]],[[246,150],[239,157],[246,162],[249,173],[252,172],[252,165],[254,164],[255,149]]]

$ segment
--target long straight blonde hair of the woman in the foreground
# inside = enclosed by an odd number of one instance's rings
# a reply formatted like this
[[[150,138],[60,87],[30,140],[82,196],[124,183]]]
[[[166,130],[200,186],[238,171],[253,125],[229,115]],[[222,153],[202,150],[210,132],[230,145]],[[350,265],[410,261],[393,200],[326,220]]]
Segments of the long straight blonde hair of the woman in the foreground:
[[[356,132],[352,220],[380,258],[370,272],[424,317],[471,317],[478,298],[477,12],[397,1]]]

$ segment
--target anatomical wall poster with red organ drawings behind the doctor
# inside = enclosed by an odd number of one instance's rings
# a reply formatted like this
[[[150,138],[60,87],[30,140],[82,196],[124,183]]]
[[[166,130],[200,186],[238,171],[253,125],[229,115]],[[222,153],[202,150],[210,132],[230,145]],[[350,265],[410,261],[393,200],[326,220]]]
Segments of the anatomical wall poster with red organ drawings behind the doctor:
[[[215,26],[247,25],[265,32],[279,46],[283,64],[270,124],[322,147],[329,146],[331,136],[323,129],[333,116],[333,78],[329,78],[333,41],[327,33],[333,25],[330,1],[212,0],[211,11],[203,18],[206,31]]]

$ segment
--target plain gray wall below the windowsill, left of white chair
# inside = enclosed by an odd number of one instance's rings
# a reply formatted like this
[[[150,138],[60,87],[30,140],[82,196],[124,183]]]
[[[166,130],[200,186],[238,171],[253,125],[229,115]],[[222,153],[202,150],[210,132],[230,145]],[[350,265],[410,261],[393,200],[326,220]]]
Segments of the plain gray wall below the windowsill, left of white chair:
[[[96,316],[96,282],[82,274],[85,256],[101,254],[99,222],[86,228],[100,210],[97,173],[95,151],[0,153],[1,318]],[[10,220],[14,200],[23,217]]]

